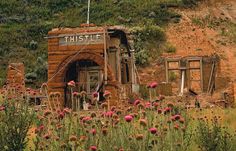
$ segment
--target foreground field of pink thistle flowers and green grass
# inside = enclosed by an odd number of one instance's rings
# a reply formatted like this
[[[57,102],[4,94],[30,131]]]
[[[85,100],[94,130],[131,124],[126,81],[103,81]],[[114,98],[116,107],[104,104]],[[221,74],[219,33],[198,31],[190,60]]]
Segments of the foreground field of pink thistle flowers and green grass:
[[[154,84],[150,90],[156,89]],[[5,93],[2,95],[7,98]],[[235,120],[229,122],[235,117],[234,110],[187,110],[177,101],[157,98],[136,99],[128,106],[110,109],[105,102],[91,111],[29,108],[23,103],[27,99],[19,102],[8,98],[7,103],[0,100],[0,147],[6,151],[236,149]]]

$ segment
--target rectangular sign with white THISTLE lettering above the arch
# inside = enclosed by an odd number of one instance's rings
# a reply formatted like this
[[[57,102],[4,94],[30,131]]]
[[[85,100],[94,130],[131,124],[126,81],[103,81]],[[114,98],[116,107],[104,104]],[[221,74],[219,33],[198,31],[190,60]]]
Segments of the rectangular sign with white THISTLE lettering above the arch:
[[[104,42],[103,33],[65,34],[59,35],[59,37],[59,45],[101,44]]]

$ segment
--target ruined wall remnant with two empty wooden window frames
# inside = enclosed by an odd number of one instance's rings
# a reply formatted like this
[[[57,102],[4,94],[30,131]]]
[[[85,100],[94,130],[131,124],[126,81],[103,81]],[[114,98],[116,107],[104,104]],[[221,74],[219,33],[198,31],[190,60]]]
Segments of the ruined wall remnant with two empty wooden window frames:
[[[165,58],[166,82],[172,83],[170,73],[179,74],[176,77],[178,94],[182,95],[184,89],[195,89],[198,93],[212,94],[215,87],[216,71],[219,66],[217,55],[187,56]]]

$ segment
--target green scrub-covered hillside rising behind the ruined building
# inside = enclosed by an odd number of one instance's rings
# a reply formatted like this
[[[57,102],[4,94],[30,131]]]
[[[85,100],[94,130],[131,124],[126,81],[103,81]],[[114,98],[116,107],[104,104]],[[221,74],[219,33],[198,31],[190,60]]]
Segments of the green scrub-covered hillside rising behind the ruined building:
[[[91,22],[97,25],[141,27],[159,33],[143,37],[145,46],[138,48],[138,63],[146,64],[150,49],[159,51],[163,27],[178,22],[180,15],[172,7],[192,7],[198,0],[92,0]],[[76,27],[85,23],[87,0],[7,0],[0,1],[0,84],[4,83],[9,62],[24,62],[26,73],[44,81],[47,61],[47,32],[55,27]],[[160,34],[161,31],[161,35]],[[146,35],[147,36],[147,35]],[[159,37],[161,36],[161,37]],[[157,39],[156,39],[157,38]],[[151,40],[151,41],[150,41]],[[160,41],[161,40],[161,41]],[[155,43],[157,41],[157,43]],[[149,43],[150,42],[150,43]],[[141,44],[139,44],[140,46]],[[143,55],[144,54],[144,57]],[[143,58],[142,58],[143,57]],[[38,60],[42,63],[39,65]],[[32,79],[27,79],[32,82]]]

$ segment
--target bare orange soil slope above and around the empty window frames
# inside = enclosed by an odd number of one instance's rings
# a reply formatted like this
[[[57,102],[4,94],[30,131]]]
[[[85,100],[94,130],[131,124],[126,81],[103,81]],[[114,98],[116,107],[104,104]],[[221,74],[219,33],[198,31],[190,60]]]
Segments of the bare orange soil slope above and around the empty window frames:
[[[228,76],[236,88],[236,43],[222,34],[228,32],[225,22],[236,23],[236,1],[209,0],[195,9],[177,10],[182,19],[166,29],[167,39],[176,47],[175,54],[163,56],[220,56],[219,76]],[[204,24],[194,23],[194,19],[203,19]],[[212,26],[209,26],[214,22]],[[157,67],[152,63],[139,70],[141,82],[158,79]],[[148,79],[148,80],[147,80]],[[236,92],[236,90],[235,90]]]

